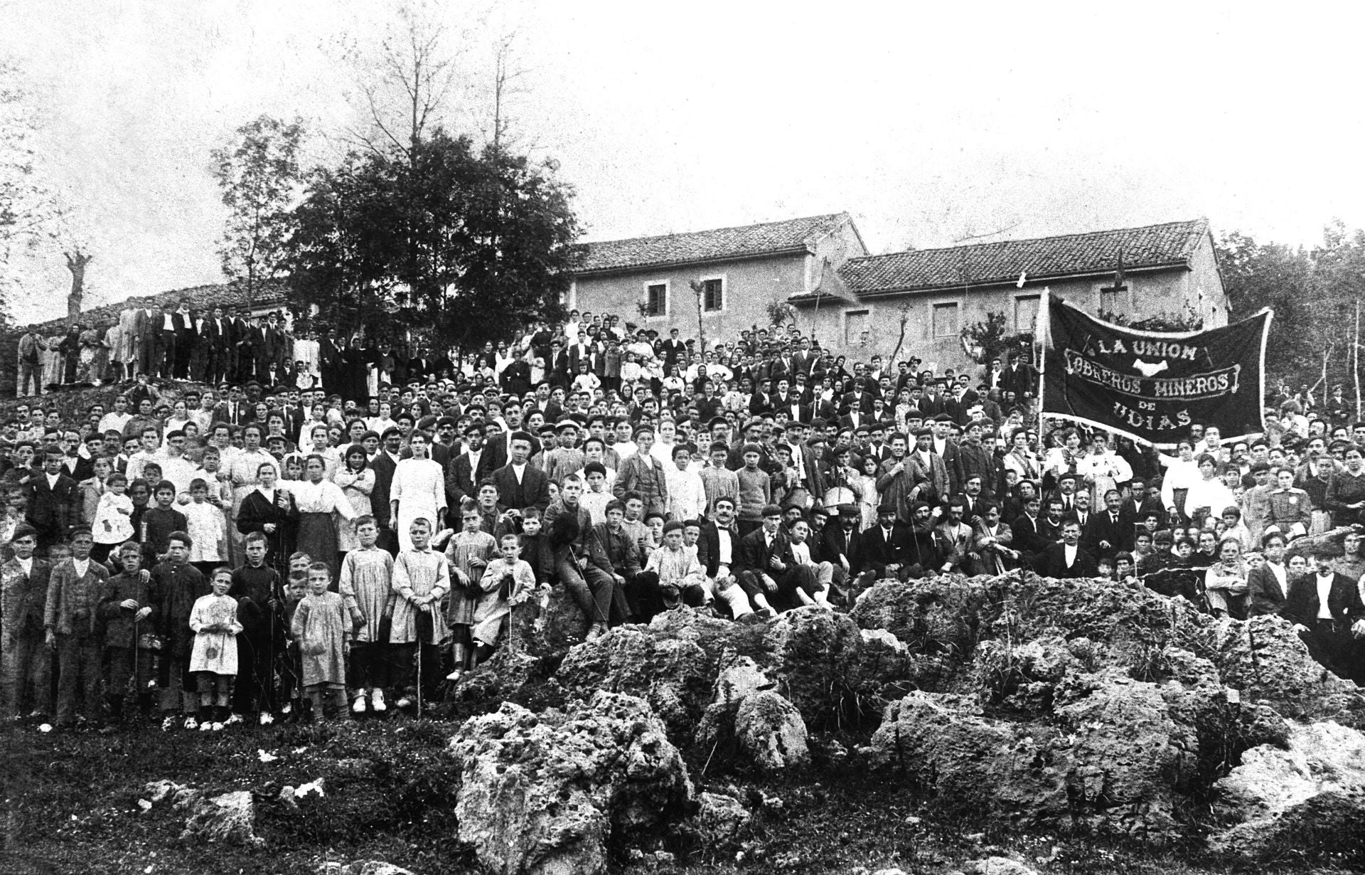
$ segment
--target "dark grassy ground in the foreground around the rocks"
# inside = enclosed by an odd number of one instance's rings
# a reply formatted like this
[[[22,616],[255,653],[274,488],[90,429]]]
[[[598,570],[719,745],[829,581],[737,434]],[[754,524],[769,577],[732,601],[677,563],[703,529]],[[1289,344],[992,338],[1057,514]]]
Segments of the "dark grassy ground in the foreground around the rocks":
[[[394,718],[296,728],[162,733],[150,726],[113,736],[0,730],[4,841],[0,872],[315,872],[328,860],[381,859],[423,875],[474,872],[456,841],[459,763],[445,752],[457,723]],[[850,749],[861,740],[845,736]],[[259,751],[278,759],[261,762]],[[658,871],[849,872],[898,865],[936,874],[990,853],[1016,853],[1046,874],[1166,875],[1207,872],[1347,872],[1340,867],[1238,867],[1197,849],[1147,848],[1093,838],[1020,835],[973,820],[945,820],[934,800],[854,760],[793,774],[747,773],[723,752],[689,751],[698,789],[747,800],[753,822],[736,845],[661,840],[676,867]],[[707,762],[710,758],[710,762]],[[161,778],[210,792],[250,789],[263,848],[186,846],[184,814],[143,811],[142,788]],[[274,801],[284,785],[324,778],[325,796]],[[614,868],[644,871],[617,848]],[[1353,861],[1358,864],[1360,861]],[[654,867],[652,860],[650,861]]]

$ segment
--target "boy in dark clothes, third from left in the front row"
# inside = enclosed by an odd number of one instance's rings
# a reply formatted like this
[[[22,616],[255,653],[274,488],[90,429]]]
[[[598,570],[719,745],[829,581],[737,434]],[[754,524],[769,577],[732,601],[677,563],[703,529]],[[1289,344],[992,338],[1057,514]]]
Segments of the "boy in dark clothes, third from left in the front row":
[[[136,541],[128,541],[112,558],[123,571],[105,584],[100,599],[100,620],[105,624],[104,652],[109,663],[104,699],[109,706],[109,722],[117,723],[124,718],[124,703],[130,692],[142,717],[152,713],[149,681],[154,652],[138,651],[138,639],[143,632],[152,631],[156,617],[152,587],[142,575],[142,547]]]

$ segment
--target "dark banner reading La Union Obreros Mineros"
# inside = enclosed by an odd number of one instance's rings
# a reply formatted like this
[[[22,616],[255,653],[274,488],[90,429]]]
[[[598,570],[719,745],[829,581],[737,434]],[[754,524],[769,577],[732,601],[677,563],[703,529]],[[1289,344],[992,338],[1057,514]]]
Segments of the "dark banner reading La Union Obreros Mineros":
[[[1050,296],[1043,412],[1159,445],[1186,437],[1192,422],[1218,426],[1223,438],[1259,434],[1271,315],[1205,332],[1137,332]]]

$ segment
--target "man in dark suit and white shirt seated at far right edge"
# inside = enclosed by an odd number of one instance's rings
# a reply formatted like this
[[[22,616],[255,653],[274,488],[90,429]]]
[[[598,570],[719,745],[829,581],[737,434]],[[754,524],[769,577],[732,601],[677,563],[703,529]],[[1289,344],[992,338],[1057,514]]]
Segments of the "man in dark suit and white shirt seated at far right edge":
[[[1284,618],[1324,668],[1340,677],[1358,672],[1351,659],[1351,625],[1365,617],[1355,582],[1332,571],[1335,557],[1325,549],[1313,551],[1313,571],[1290,583]]]

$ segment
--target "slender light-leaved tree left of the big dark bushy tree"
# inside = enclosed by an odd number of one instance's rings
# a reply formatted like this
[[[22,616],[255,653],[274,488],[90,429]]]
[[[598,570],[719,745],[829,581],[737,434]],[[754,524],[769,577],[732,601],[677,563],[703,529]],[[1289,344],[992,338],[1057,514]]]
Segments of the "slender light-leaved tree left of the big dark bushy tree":
[[[228,218],[218,244],[222,273],[243,285],[247,306],[263,281],[278,276],[288,235],[285,214],[302,184],[303,126],[261,116],[213,150],[213,175]]]

